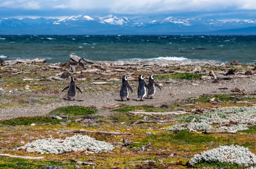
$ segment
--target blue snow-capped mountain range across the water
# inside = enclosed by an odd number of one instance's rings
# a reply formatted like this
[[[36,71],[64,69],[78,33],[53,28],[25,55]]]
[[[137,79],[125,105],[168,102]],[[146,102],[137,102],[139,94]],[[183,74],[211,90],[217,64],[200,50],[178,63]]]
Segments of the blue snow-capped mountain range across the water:
[[[70,16],[62,20],[0,19],[0,34],[256,34],[256,20],[108,15]]]

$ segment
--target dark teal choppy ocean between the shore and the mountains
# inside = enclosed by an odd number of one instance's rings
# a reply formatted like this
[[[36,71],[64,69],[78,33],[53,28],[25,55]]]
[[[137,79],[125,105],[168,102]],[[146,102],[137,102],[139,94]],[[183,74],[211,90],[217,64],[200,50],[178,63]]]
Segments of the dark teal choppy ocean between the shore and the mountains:
[[[102,61],[256,63],[256,36],[0,35],[0,59],[67,62],[69,54]]]

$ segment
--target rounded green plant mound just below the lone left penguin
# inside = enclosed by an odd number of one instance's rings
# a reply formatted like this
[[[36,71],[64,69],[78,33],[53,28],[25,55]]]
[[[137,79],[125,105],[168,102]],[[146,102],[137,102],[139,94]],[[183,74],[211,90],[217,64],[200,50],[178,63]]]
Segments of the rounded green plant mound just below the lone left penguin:
[[[67,106],[54,109],[47,115],[90,115],[96,112],[97,110],[91,107]]]

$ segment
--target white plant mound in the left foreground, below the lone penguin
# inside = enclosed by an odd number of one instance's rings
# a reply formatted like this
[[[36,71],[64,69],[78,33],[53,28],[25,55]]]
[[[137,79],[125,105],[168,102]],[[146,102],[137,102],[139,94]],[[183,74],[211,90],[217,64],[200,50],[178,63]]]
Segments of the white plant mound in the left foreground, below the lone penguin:
[[[85,150],[85,153],[100,153],[111,151],[114,147],[105,141],[97,141],[87,135],[74,135],[66,139],[48,138],[39,139],[21,146],[19,149],[26,149],[27,152],[38,152],[40,154],[61,154],[63,152],[76,152]]]

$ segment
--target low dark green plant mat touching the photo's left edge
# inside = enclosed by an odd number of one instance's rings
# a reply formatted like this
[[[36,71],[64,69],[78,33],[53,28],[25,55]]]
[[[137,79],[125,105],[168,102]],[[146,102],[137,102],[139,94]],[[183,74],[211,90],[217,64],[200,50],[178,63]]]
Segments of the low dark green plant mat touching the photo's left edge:
[[[35,116],[35,117],[12,118],[8,120],[0,121],[0,124],[15,126],[15,125],[30,125],[33,123],[34,124],[45,124],[45,123],[58,124],[59,122],[61,122],[61,120],[52,119],[50,117],[45,117],[45,116]]]

